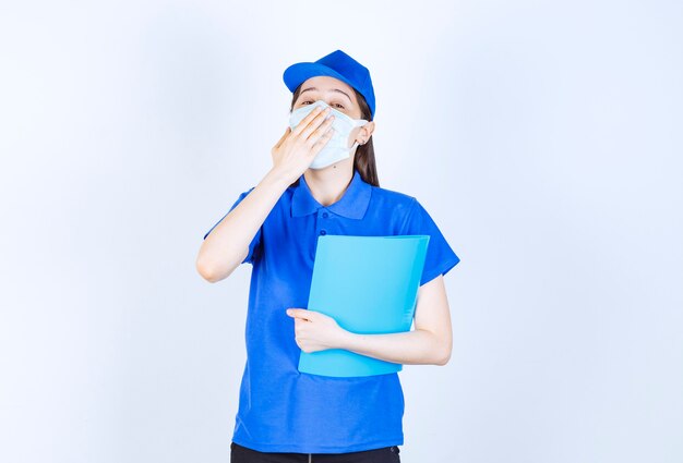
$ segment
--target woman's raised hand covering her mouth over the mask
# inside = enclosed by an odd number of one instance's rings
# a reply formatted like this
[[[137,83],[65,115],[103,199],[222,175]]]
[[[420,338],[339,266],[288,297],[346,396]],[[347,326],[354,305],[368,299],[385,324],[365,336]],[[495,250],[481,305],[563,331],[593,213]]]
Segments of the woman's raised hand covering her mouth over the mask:
[[[299,125],[287,127],[285,134],[271,150],[273,170],[283,175],[288,184],[293,183],[309,168],[317,153],[329,141],[334,115],[325,119],[329,108],[317,107],[301,120]]]

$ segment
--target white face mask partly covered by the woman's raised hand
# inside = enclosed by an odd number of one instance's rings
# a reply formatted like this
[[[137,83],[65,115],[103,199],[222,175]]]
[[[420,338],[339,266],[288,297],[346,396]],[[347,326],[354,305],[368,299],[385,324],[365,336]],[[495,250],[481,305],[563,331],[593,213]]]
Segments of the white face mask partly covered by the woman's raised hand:
[[[301,120],[319,106],[323,109],[329,107],[329,105],[325,101],[317,100],[312,105],[305,105],[291,111],[289,117],[289,127],[293,131],[295,127],[299,125]],[[317,153],[313,162],[311,162],[311,169],[322,169],[350,157],[354,149],[358,147],[358,142],[356,142],[350,148],[347,146],[351,131],[355,127],[363,126],[368,123],[364,119],[351,119],[334,108],[331,109],[332,111],[329,114],[334,114],[334,121],[332,121],[332,137],[327,141],[325,146],[323,146],[323,149]]]

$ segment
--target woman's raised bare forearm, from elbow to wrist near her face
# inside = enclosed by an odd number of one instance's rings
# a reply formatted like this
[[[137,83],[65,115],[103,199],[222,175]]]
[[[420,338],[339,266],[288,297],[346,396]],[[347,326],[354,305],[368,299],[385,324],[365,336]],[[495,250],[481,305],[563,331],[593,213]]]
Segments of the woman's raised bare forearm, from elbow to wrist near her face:
[[[283,175],[269,170],[206,236],[196,259],[200,273],[211,281],[230,275],[242,261],[259,228],[288,186]]]

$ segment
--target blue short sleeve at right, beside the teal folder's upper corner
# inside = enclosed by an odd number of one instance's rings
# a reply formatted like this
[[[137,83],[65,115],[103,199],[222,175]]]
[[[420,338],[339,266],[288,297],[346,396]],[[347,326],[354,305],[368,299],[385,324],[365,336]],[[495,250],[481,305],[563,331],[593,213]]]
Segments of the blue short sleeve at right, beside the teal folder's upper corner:
[[[460,261],[434,220],[416,198],[412,198],[403,234],[427,234],[430,236],[420,285],[440,275],[446,275]]]

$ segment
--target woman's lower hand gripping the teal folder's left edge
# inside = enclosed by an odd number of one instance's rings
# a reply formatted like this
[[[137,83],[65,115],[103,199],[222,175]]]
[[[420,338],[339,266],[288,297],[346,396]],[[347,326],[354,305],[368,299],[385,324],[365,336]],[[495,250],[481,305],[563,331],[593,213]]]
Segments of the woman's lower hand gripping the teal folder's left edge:
[[[303,352],[342,349],[347,330],[328,315],[305,308],[290,307],[287,315],[295,319],[295,337]]]

